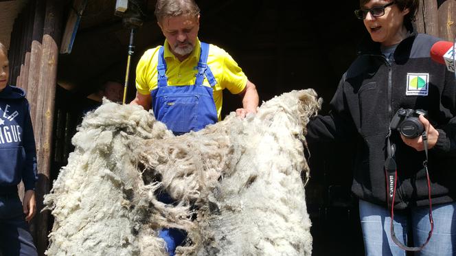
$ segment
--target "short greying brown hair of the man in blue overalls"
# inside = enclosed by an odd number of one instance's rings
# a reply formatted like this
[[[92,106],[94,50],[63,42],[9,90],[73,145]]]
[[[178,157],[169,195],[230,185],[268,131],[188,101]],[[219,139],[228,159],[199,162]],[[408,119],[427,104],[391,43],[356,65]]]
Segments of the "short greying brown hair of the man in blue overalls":
[[[161,22],[163,18],[175,16],[198,16],[200,9],[194,0],[157,0],[155,16]]]

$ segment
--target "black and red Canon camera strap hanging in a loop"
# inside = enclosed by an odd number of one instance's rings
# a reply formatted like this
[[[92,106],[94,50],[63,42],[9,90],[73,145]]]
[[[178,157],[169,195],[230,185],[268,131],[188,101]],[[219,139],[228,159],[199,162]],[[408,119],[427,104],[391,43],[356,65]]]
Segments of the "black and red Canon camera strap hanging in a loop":
[[[394,243],[402,248],[405,251],[421,251],[424,246],[431,240],[432,232],[434,229],[434,220],[432,218],[432,201],[431,201],[431,179],[429,178],[429,172],[427,168],[428,162],[428,145],[427,145],[427,136],[426,131],[422,133],[422,139],[424,143],[424,151],[426,152],[426,160],[423,162],[424,170],[426,170],[426,178],[427,178],[427,187],[428,187],[428,197],[429,197],[429,222],[431,223],[431,231],[429,231],[429,235],[421,246],[418,247],[409,247],[405,246],[398,240],[396,234],[394,233],[394,198],[396,196],[396,185],[397,185],[397,178],[398,178],[398,171],[396,166],[396,161],[394,161],[394,147],[391,147],[391,142],[389,137],[387,139],[387,160],[385,161],[385,175],[387,181],[387,202],[388,202],[388,209],[391,211],[391,222],[390,222],[390,233],[391,239]]]

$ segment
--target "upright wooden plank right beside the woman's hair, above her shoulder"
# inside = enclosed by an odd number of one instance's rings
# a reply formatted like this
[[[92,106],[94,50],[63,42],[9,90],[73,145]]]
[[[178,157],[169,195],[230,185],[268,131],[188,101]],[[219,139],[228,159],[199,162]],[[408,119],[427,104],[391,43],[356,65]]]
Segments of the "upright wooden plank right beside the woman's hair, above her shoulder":
[[[418,32],[439,36],[437,0],[420,0],[416,18]]]

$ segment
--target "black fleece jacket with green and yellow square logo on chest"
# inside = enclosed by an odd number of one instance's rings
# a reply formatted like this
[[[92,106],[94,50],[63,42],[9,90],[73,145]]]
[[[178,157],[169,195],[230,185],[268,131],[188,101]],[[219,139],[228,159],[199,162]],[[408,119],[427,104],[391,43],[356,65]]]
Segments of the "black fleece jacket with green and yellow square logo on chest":
[[[429,51],[439,38],[411,31],[397,46],[394,60],[380,53],[378,43],[365,40],[330,102],[330,114],[318,115],[307,127],[310,149],[320,140],[356,143],[352,191],[358,198],[385,207],[387,136],[399,108],[426,110],[439,132],[437,144],[429,150],[433,204],[456,198],[455,73],[430,58]],[[396,145],[398,170],[395,209],[429,205],[424,151],[405,145],[395,130],[390,139]]]

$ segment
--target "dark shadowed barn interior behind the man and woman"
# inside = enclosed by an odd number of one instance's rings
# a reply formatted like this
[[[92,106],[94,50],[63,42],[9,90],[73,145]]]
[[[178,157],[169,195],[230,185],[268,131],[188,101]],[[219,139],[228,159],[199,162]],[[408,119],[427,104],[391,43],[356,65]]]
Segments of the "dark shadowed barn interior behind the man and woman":
[[[231,54],[257,86],[260,102],[313,88],[323,98],[321,113],[327,113],[341,75],[356,56],[356,45],[367,35],[353,14],[358,1],[196,2],[201,8],[198,38]],[[82,113],[93,104],[87,96],[106,80],[125,80],[130,28],[114,10],[115,1],[87,1],[71,52],[59,56],[52,180],[66,165]],[[135,97],[137,61],[146,49],[163,45],[154,10],[155,1],[141,8],[143,24],[135,30],[127,102]],[[240,106],[237,95],[224,97],[223,115]],[[322,143],[310,149],[309,156],[312,178],[306,194],[314,255],[363,255],[356,200],[350,195],[349,148]]]

